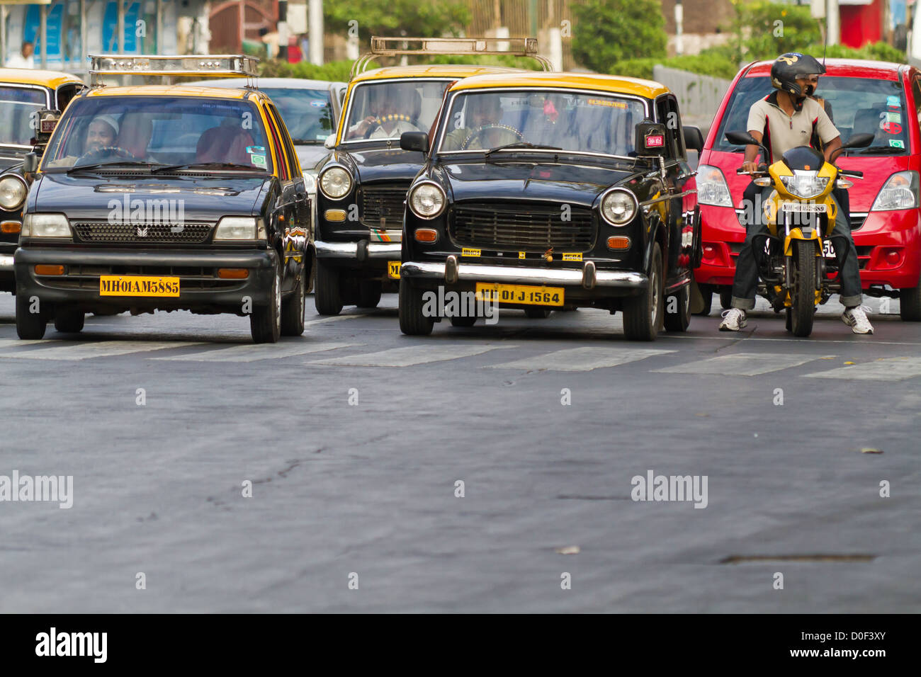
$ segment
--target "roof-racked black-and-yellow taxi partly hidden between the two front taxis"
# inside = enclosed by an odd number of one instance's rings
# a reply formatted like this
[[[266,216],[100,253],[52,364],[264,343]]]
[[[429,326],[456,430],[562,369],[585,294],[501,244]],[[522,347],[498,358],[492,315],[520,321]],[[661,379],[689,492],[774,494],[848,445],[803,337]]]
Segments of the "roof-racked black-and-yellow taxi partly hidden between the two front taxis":
[[[374,308],[382,291],[396,291],[403,203],[424,163],[421,153],[400,148],[400,134],[428,131],[451,82],[489,73],[525,72],[478,65],[361,69],[380,56],[435,53],[513,54],[549,67],[532,39],[510,41],[502,51],[494,47],[493,40],[375,37],[371,51],[356,61],[342,121],[328,144],[332,154],[318,173],[314,301],[321,315],[337,315],[345,305]]]

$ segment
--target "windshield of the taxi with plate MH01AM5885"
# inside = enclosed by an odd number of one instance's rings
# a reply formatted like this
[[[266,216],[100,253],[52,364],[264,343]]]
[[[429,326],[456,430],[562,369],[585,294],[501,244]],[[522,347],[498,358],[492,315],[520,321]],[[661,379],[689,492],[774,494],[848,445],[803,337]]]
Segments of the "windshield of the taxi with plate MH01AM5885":
[[[111,96],[76,99],[42,168],[223,163],[272,171],[259,110],[248,101]]]

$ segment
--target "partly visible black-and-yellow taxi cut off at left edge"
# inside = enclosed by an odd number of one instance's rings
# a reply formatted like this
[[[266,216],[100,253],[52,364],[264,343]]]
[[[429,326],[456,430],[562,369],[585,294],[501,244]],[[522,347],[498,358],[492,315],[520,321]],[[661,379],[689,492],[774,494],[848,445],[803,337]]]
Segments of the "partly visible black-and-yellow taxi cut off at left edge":
[[[22,227],[22,205],[30,177],[22,158],[35,147],[43,111],[64,111],[84,88],[76,76],[59,71],[0,68],[0,291],[15,291],[13,252]]]

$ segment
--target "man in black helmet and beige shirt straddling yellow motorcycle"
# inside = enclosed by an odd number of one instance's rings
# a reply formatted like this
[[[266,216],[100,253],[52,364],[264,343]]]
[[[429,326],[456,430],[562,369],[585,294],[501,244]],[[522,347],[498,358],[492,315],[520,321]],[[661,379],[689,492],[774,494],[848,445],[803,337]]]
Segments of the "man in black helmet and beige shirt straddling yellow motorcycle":
[[[790,148],[810,145],[813,134],[822,141],[822,152],[826,161],[841,147],[841,137],[834,123],[829,119],[823,106],[810,98],[815,92],[819,76],[824,72],[825,67],[808,54],[786,53],[777,57],[771,67],[771,84],[777,91],[752,104],[747,125],[749,134],[752,134],[756,141],[764,141],[769,157],[763,159],[768,165]],[[745,146],[742,169],[757,171],[758,164],[755,158],[759,150],[758,146]],[[774,190],[773,186],[759,189],[752,182],[743,194],[742,204],[745,208],[742,210],[741,220],[746,229],[745,244],[736,260],[731,308],[724,313],[723,321],[719,325],[720,331],[740,331],[748,323],[745,311],[754,308],[758,267],[752,251],[752,238],[767,231],[762,205]],[[845,256],[845,248],[840,247],[835,251],[838,277],[841,280],[841,303],[845,306],[841,320],[849,325],[854,333],[873,333],[873,325],[860,305],[860,269],[856,249],[853,249],[854,239],[851,236],[849,219],[845,210],[837,204],[834,194],[832,199],[838,207],[833,232],[835,235],[844,235],[852,248],[844,263],[842,258]]]

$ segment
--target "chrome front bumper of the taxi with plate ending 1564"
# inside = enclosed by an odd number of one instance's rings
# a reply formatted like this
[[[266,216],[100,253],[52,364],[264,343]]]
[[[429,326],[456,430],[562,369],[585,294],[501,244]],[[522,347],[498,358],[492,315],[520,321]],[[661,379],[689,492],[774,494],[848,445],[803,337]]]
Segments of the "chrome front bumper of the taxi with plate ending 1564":
[[[400,266],[400,275],[443,280],[446,276],[446,267],[445,263],[407,261]],[[578,268],[521,268],[479,263],[458,264],[459,282],[582,286],[584,277],[584,270]],[[643,289],[647,286],[648,279],[647,275],[642,273],[599,271],[595,274],[595,285]]]

